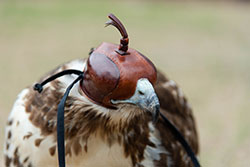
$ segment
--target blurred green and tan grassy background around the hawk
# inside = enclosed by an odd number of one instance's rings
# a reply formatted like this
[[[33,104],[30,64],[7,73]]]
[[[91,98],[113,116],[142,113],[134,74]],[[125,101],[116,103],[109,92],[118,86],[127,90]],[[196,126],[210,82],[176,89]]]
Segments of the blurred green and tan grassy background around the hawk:
[[[198,125],[201,164],[249,166],[250,4],[237,2],[0,2],[0,150],[24,87],[103,41],[119,42],[117,30],[104,29],[111,12],[126,25],[130,46],[183,88]]]

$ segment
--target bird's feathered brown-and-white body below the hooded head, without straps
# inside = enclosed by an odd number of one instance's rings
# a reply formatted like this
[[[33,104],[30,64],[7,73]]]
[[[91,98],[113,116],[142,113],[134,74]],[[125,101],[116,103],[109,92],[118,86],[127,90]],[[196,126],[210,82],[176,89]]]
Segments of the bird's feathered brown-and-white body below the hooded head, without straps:
[[[51,74],[83,70],[86,60],[66,63]],[[155,91],[160,111],[180,130],[198,154],[198,139],[191,108],[172,80],[158,72]],[[43,78],[43,79],[44,79]],[[75,75],[58,78],[41,94],[32,87],[18,96],[8,118],[4,147],[6,167],[56,167],[57,106]],[[182,145],[161,119],[131,104],[108,109],[90,100],[76,84],[65,106],[65,153],[70,167],[186,167],[192,166]]]

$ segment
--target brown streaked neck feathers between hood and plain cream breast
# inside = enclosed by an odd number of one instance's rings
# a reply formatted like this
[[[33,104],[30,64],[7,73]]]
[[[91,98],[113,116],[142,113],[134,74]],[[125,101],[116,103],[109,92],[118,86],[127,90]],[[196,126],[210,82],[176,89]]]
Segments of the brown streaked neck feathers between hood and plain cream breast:
[[[66,154],[69,153],[67,150],[71,150],[67,148],[74,149],[74,145],[79,145],[79,143],[84,143],[84,148],[91,148],[88,143],[98,139],[110,148],[113,145],[120,145],[124,156],[131,157],[134,165],[142,161],[143,156],[140,155],[143,155],[147,145],[152,145],[148,138],[149,116],[133,114],[132,112],[136,112],[132,110],[133,107],[129,107],[131,110],[122,107],[109,112],[100,111],[98,106],[83,104],[79,99],[72,97],[69,97],[67,103],[68,107],[65,110]]]

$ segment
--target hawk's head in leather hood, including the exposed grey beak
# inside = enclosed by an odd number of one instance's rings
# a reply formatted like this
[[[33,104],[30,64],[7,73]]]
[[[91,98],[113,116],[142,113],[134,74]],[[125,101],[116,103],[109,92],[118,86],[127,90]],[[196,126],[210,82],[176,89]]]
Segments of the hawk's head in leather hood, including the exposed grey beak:
[[[122,23],[112,14],[107,25],[121,33],[120,45],[102,43],[89,56],[80,86],[93,102],[116,109],[129,104],[150,112],[156,121],[159,100],[154,91],[157,79],[153,63],[135,49],[128,48],[128,35]]]

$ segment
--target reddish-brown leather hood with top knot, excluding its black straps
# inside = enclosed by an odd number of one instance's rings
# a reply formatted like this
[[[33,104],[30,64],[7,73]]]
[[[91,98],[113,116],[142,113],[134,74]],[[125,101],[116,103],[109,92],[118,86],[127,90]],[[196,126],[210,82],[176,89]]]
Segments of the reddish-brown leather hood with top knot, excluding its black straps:
[[[154,85],[157,73],[147,57],[128,48],[128,34],[120,20],[113,14],[108,17],[106,26],[115,26],[122,35],[120,45],[104,42],[90,53],[80,86],[93,102],[114,108],[111,99],[130,98],[140,78],[147,78]]]

